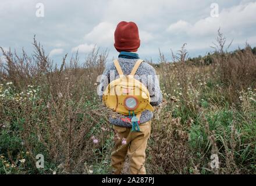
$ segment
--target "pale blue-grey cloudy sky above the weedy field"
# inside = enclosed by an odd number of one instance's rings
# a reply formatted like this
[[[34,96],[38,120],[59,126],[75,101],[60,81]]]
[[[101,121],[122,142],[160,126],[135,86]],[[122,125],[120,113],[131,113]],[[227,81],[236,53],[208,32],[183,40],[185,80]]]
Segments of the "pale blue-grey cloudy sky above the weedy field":
[[[83,60],[94,46],[108,48],[112,60],[118,55],[113,33],[125,20],[138,25],[140,57],[157,62],[159,48],[170,58],[170,49],[177,51],[183,43],[190,56],[205,55],[219,27],[227,41],[233,39],[232,49],[246,41],[255,47],[255,17],[256,0],[1,0],[0,46],[32,53],[35,34],[55,62],[77,49]]]

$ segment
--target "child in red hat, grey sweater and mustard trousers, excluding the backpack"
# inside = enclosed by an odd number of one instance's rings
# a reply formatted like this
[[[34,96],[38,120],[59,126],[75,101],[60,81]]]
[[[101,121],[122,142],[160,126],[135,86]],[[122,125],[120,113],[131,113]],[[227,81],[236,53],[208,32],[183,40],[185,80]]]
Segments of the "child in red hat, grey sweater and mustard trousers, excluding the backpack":
[[[136,53],[140,47],[140,38],[138,27],[133,22],[120,22],[115,30],[116,50],[119,53],[118,62],[122,68],[123,74],[129,75],[136,61],[139,59]],[[112,77],[114,76],[114,77]],[[105,90],[110,81],[119,76],[113,62],[107,63],[104,73],[102,74],[99,85],[99,94]],[[155,69],[146,62],[142,62],[134,76],[141,81],[150,92],[152,106],[157,106],[162,102],[162,94],[159,88],[159,80],[156,76]],[[151,119],[153,113],[144,110],[140,116],[140,132],[131,132],[131,124],[122,117],[110,116],[109,121],[113,124],[116,133],[115,149],[112,152],[111,160],[115,174],[120,174],[126,155],[130,159],[130,174],[145,174],[145,149],[150,137]]]

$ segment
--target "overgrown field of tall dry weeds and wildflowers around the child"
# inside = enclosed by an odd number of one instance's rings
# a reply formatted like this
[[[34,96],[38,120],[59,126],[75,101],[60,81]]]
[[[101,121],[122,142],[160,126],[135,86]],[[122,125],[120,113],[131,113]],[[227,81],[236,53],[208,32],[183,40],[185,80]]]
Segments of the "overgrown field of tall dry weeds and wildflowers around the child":
[[[248,45],[226,52],[222,34],[217,41],[197,61],[183,46],[172,63],[160,52],[152,64],[164,99],[152,120],[148,174],[256,173],[256,55]],[[111,173],[114,133],[96,92],[107,52],[94,49],[82,65],[64,56],[57,67],[34,39],[32,56],[2,54],[0,174]]]

